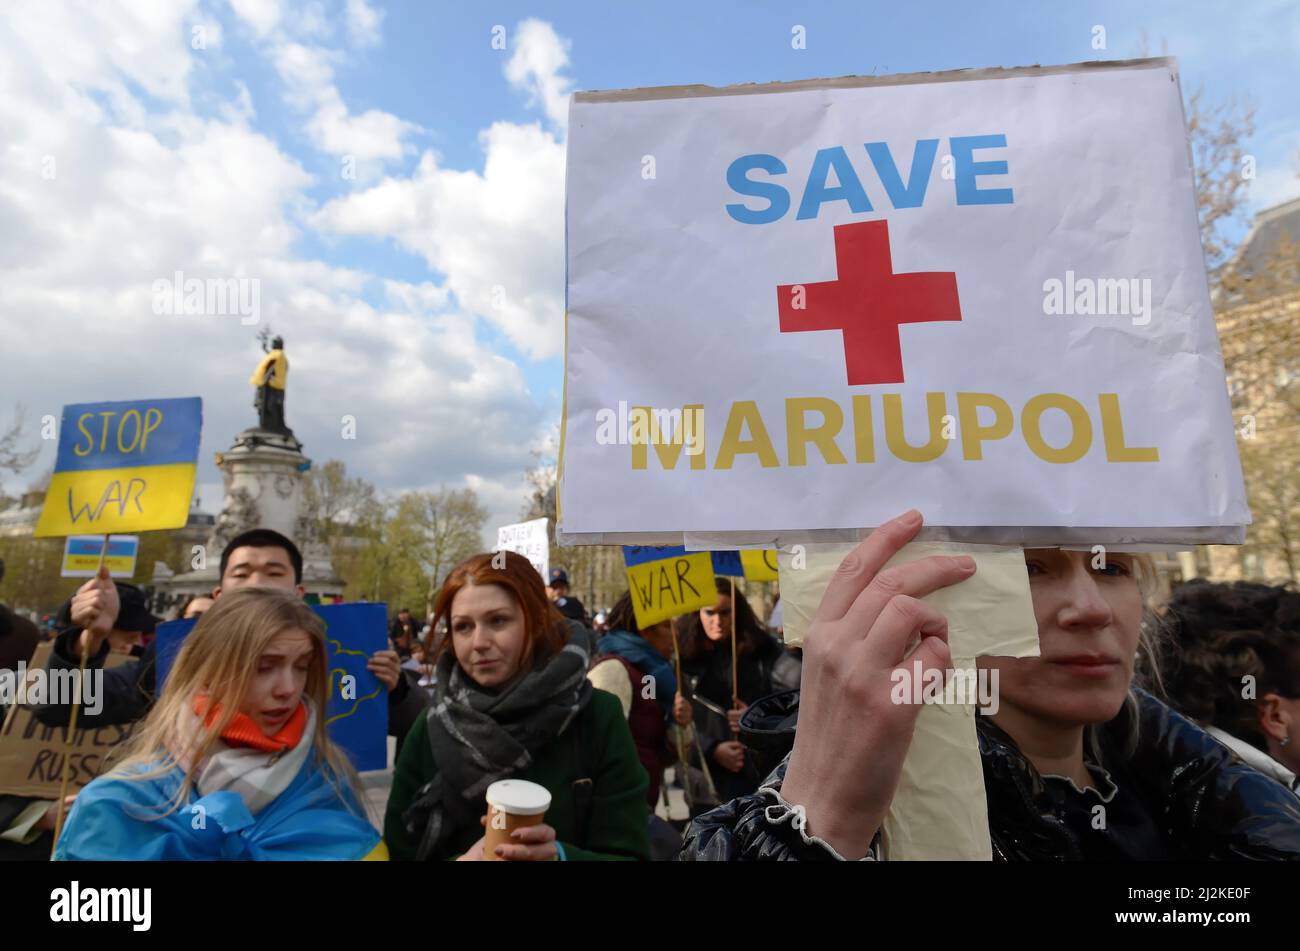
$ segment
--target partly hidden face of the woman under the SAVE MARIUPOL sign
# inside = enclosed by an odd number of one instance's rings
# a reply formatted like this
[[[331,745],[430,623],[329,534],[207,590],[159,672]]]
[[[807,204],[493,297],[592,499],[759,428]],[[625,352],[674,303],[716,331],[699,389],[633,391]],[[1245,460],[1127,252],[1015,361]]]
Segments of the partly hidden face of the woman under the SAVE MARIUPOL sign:
[[[1132,555],[1024,552],[1039,624],[1039,657],[982,657],[998,670],[1001,705],[1061,725],[1119,712],[1132,679],[1143,600]],[[1093,563],[1098,563],[1093,568]]]

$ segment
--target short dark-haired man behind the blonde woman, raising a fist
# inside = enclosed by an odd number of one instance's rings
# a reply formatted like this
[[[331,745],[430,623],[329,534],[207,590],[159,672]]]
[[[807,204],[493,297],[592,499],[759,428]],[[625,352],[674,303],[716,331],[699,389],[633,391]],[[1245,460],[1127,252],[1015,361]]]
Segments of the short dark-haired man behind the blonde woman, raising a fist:
[[[222,591],[254,585],[292,589],[302,596],[306,589],[303,556],[298,546],[270,529],[254,529],[230,539],[221,552],[221,582],[212,590],[213,599],[220,598]],[[103,666],[108,657],[105,640],[122,608],[118,587],[109,579],[108,570],[101,569],[99,577],[82,585],[66,605],[72,624],[55,639],[48,669],[75,670],[82,651],[86,652],[88,670]],[[87,726],[109,726],[142,718],[150,712],[157,692],[156,660],[156,647],[151,643],[138,661],[104,670],[103,709],[99,715],[82,711],[78,720]],[[402,674],[402,661],[391,644],[387,650],[376,651],[367,668],[389,690],[389,733],[400,743],[429,698]],[[32,711],[40,722],[64,726],[72,707],[44,704],[34,705]]]

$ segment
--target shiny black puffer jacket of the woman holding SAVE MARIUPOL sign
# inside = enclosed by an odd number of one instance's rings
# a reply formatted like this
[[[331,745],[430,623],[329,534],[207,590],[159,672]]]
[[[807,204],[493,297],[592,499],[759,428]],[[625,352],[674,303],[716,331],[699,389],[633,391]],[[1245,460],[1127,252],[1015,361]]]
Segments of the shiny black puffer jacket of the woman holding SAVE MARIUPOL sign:
[[[1096,792],[1044,780],[1010,737],[976,717],[993,857],[1013,861],[1072,859],[1300,859],[1300,803],[1284,786],[1252,769],[1192,721],[1140,690],[1138,744],[1124,754],[1128,707],[1101,728],[1102,761],[1115,792],[1108,822],[1093,829]],[[764,698],[746,711],[741,739],[768,764],[764,786],[780,786],[794,743],[798,694]],[[1092,798],[1089,798],[1092,796]],[[775,800],[741,796],[694,820],[681,861],[827,860],[790,822],[764,817]],[[815,830],[812,830],[815,831]]]

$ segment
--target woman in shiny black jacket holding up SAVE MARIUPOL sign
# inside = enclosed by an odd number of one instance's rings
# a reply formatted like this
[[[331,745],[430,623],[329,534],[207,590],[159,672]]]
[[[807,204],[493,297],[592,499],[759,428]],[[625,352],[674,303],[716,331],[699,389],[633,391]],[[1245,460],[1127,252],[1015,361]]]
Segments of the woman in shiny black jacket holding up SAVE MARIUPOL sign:
[[[805,640],[793,750],[757,794],[697,818],[680,860],[876,856],[920,709],[894,702],[893,674],[952,666],[948,622],[919,599],[975,572],[965,556],[883,570],[920,526],[909,512],[845,557]],[[993,857],[1300,859],[1296,798],[1134,689],[1149,563],[1024,555],[1041,656],[979,659],[1001,687],[976,717]]]

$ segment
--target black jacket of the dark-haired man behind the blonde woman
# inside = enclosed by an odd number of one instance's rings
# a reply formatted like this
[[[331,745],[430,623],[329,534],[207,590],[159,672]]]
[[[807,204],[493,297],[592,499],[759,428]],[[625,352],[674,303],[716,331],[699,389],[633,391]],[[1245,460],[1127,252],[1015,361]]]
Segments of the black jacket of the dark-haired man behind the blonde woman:
[[[75,670],[79,659],[73,656],[73,642],[81,637],[81,630],[65,630],[55,640],[55,650],[49,653],[49,670]],[[153,640],[144,648],[139,660],[127,661],[109,670],[104,670],[103,709],[91,715],[84,709],[77,715],[79,724],[87,728],[112,726],[113,724],[129,724],[143,720],[153,707],[157,692],[155,668],[157,665],[157,642]],[[99,648],[99,653],[87,660],[86,668],[94,670],[104,666],[108,657],[108,642]],[[398,738],[398,746],[411,730],[412,724],[429,705],[429,695],[419,686],[416,678],[408,670],[402,672],[395,690],[389,691],[389,735]],[[36,720],[47,726],[66,726],[72,713],[69,704],[31,704]]]

